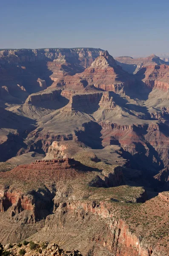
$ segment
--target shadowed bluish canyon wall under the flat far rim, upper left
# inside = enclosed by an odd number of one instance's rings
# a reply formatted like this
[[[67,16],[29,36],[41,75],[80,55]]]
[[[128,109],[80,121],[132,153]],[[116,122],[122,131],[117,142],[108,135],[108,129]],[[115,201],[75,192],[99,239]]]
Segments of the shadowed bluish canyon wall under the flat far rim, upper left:
[[[10,96],[3,99],[10,104],[21,104],[30,93],[46,89],[52,81],[82,72],[100,51],[94,48],[1,50],[0,91],[6,86]]]

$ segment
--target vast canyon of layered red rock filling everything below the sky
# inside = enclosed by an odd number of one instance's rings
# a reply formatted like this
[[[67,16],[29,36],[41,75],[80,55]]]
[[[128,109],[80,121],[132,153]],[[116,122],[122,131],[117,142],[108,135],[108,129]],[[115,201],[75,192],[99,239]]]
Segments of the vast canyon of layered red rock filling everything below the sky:
[[[168,62],[0,51],[1,243],[166,256],[168,190]]]

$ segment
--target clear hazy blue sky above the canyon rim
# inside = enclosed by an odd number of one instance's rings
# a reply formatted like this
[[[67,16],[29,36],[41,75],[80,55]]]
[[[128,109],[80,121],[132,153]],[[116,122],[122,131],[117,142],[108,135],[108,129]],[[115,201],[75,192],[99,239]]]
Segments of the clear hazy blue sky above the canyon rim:
[[[116,56],[169,52],[168,0],[1,0],[0,49],[106,49]]]

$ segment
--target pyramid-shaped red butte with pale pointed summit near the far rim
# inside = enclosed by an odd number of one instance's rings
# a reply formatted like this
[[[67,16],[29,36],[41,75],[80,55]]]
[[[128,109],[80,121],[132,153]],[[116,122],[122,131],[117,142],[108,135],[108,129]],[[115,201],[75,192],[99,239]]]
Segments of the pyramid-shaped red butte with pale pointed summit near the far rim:
[[[100,52],[100,56],[83,73],[64,79],[66,89],[83,90],[88,84],[93,84],[96,88],[114,92],[129,87],[133,82],[133,77],[118,66],[107,51]]]

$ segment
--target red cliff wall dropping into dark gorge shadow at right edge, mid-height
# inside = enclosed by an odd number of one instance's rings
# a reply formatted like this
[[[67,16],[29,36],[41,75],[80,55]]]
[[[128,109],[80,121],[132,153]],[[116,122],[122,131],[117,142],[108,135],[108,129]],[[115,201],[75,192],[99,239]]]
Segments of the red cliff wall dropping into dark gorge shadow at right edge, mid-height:
[[[149,162],[149,170],[154,173],[168,166],[169,140],[164,132],[167,125],[118,125],[105,122],[100,122],[100,125],[103,145],[120,145],[123,157],[131,157],[133,168],[139,168],[137,163],[142,162],[143,165],[145,160]]]

